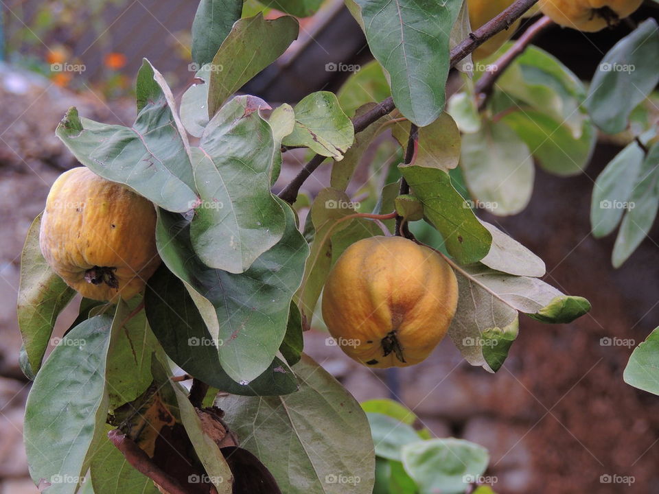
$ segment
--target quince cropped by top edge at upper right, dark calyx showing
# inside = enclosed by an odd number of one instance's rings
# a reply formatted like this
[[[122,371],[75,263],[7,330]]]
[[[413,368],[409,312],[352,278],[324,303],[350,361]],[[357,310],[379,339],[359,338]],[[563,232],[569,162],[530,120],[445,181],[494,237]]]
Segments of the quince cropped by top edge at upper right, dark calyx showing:
[[[540,0],[540,10],[555,23],[597,32],[634,13],[643,0]]]

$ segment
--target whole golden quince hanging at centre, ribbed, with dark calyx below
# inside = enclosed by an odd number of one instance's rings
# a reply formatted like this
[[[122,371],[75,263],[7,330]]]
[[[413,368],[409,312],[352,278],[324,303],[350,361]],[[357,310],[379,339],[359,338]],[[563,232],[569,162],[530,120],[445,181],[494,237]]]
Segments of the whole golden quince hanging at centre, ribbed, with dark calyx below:
[[[458,285],[437,252],[402,237],[371,237],[336,261],[323,291],[334,342],[369,367],[425,360],[455,314]]]

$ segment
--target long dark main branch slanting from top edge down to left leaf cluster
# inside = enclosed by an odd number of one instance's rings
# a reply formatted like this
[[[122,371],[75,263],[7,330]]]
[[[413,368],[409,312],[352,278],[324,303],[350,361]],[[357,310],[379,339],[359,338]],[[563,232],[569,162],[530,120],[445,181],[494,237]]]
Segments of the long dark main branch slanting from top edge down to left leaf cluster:
[[[495,34],[508,29],[538,1],[539,0],[517,0],[494,19],[483,24],[476,31],[471,32],[467,38],[462,40],[459,45],[451,50],[450,67],[455,67],[461,62],[461,60],[471,54],[476,48],[483,45],[485,41],[492,38]],[[355,128],[355,133],[362,132],[362,130],[373,124],[380,117],[384,117],[384,115],[391,113],[395,107],[391,96],[382,100],[382,102],[373,106],[371,110],[353,120],[352,123]],[[311,161],[301,169],[297,176],[293,178],[291,183],[286,185],[286,187],[279,192],[279,198],[285,200],[289,204],[293,204],[297,200],[297,194],[302,184],[307,178],[309,178],[314,170],[323,163],[323,161],[325,161],[325,156],[319,156],[316,154],[316,156],[314,156]]]

